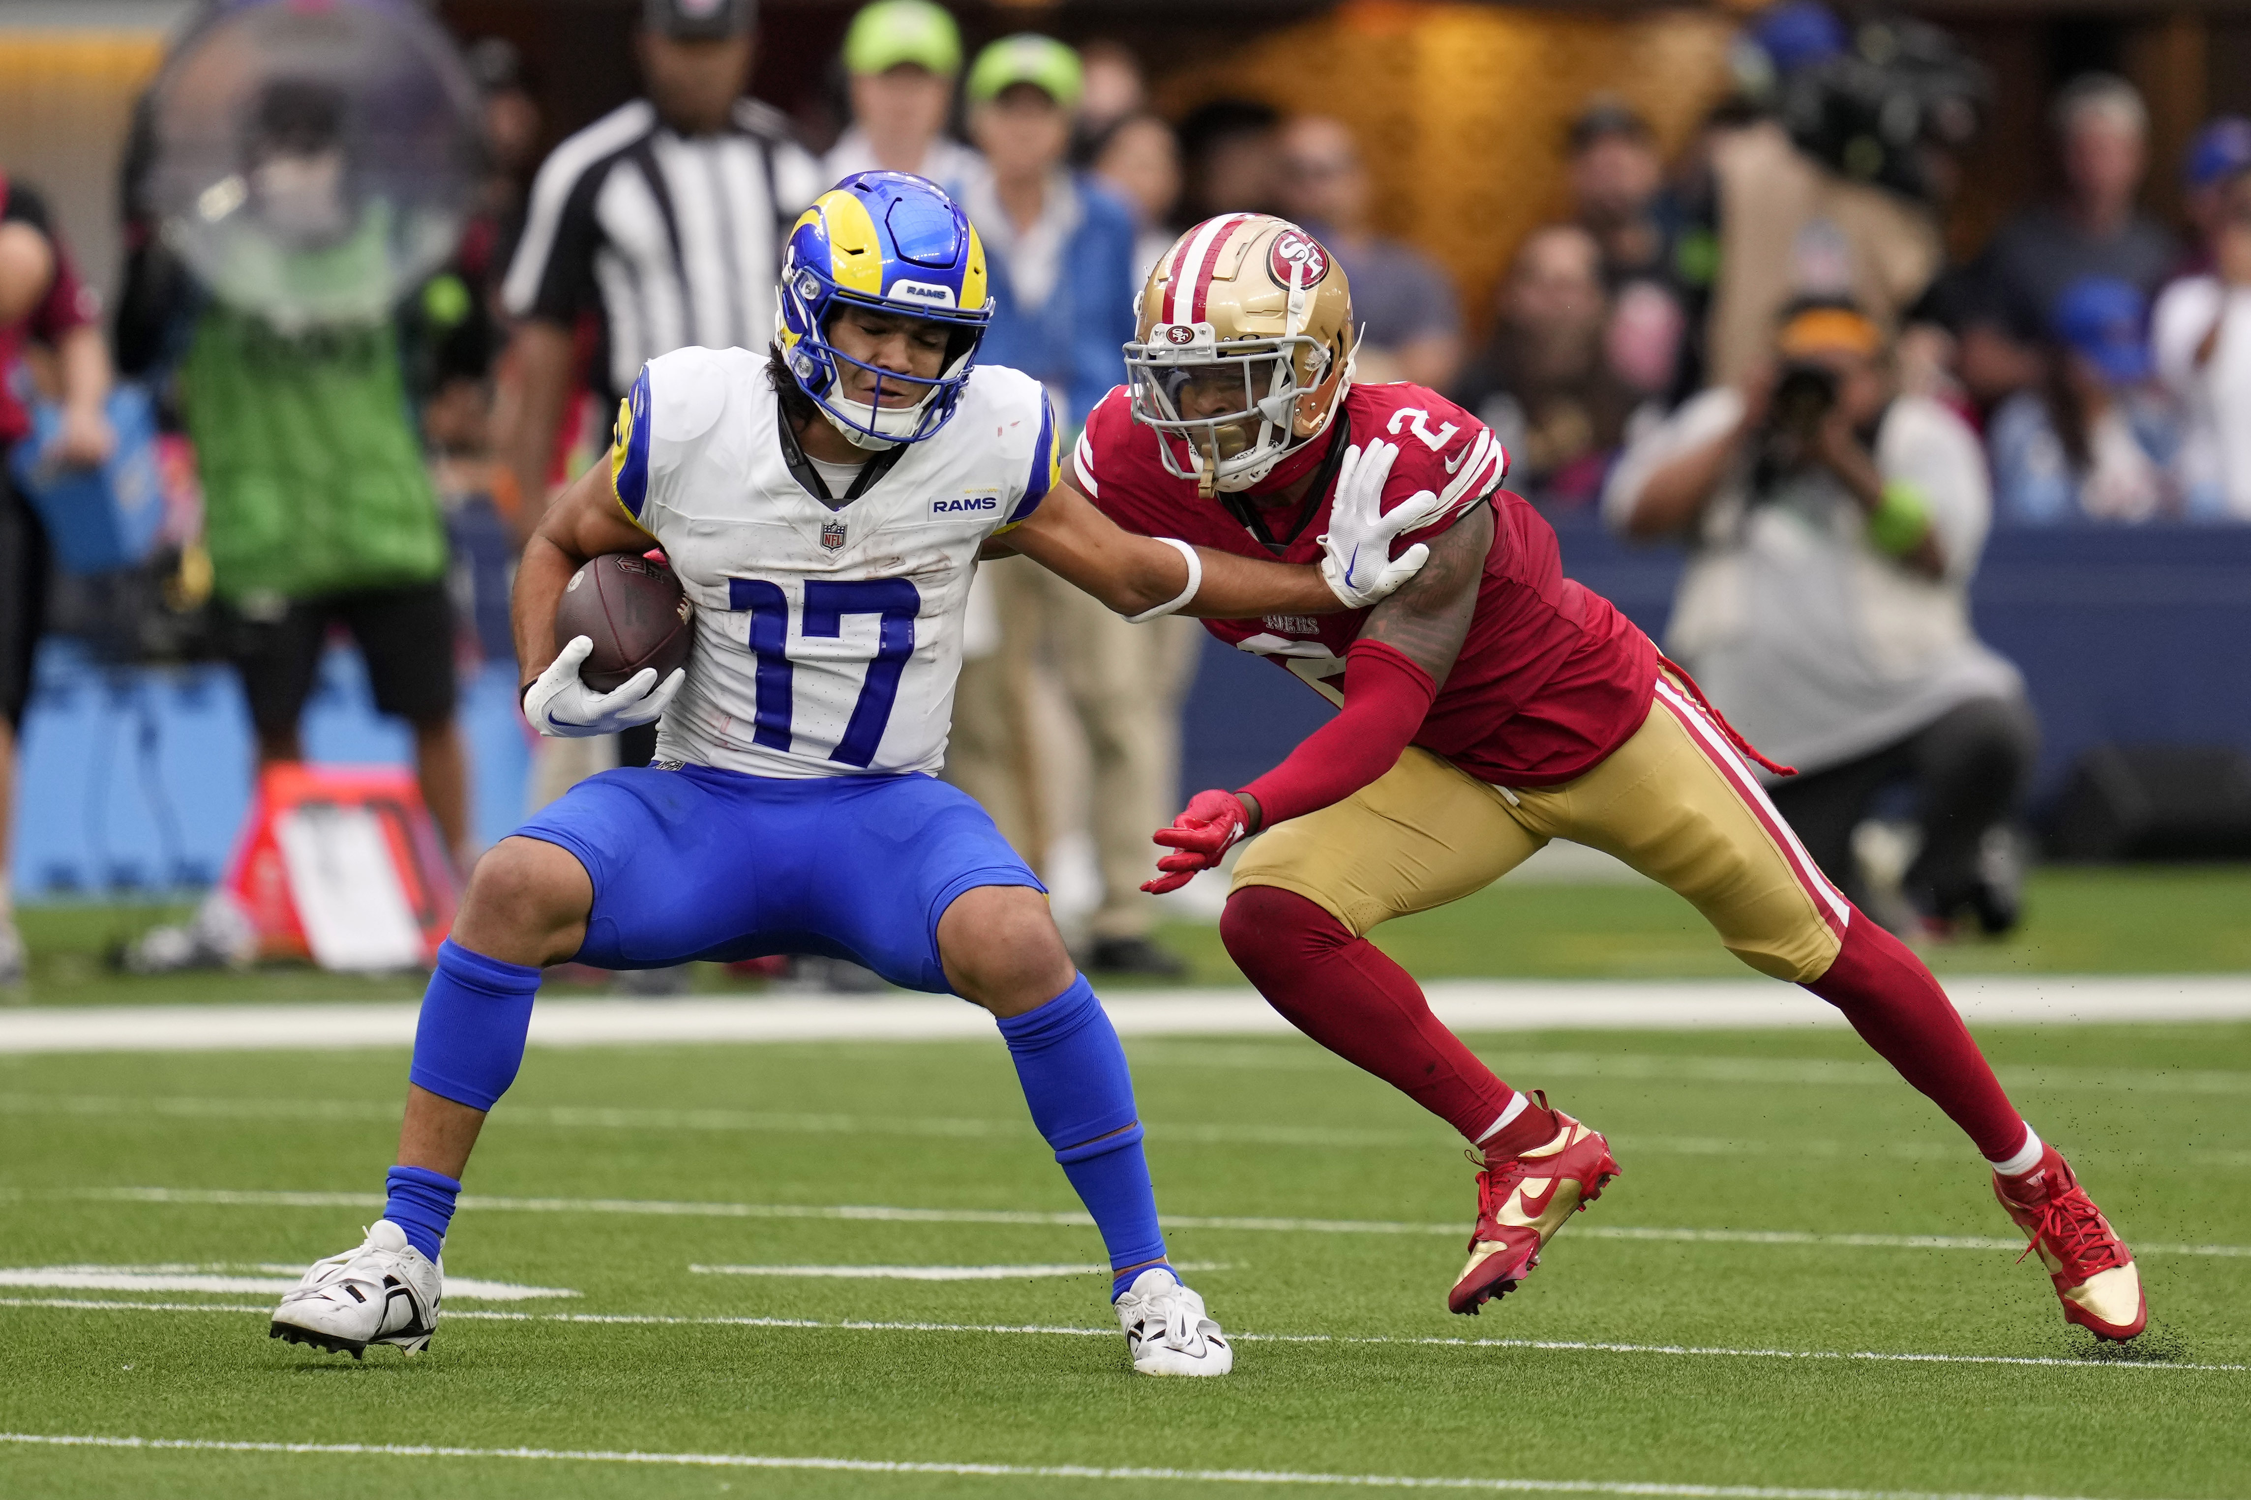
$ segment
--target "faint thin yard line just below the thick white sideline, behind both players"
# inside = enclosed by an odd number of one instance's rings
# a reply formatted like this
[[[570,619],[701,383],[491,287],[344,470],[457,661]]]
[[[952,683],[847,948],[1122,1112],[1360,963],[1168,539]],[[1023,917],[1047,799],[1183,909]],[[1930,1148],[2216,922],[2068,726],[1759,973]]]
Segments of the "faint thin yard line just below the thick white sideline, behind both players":
[[[1898,1084],[1898,1077],[1893,1075]],[[338,1124],[396,1124],[401,1106],[374,1100],[241,1100],[241,1097],[122,1097],[83,1093],[0,1093],[0,1115],[68,1115],[68,1118],[135,1118],[164,1120],[290,1120]],[[759,1109],[628,1109],[610,1104],[509,1104],[506,1127],[549,1127],[588,1131],[743,1131],[772,1136],[934,1136],[948,1140],[1033,1140],[1031,1122],[968,1118],[900,1118],[900,1115],[828,1115]],[[1429,1129],[1328,1129],[1321,1124],[1193,1124],[1144,1115],[1153,1140],[1180,1147],[1319,1147],[1373,1151],[1443,1151],[1452,1154],[1456,1138],[1441,1124]],[[1722,1136],[1612,1136],[1621,1151],[1657,1156],[1817,1156],[1864,1160],[1965,1160],[1967,1147],[1954,1140],[1823,1140],[1790,1136],[1785,1140],[1731,1140]],[[2105,1151],[2073,1147],[2075,1160],[2150,1163],[2147,1151]],[[2168,1165],[2210,1167],[2219,1172],[2251,1169],[2251,1151],[2213,1147],[2172,1147],[2161,1156]]]

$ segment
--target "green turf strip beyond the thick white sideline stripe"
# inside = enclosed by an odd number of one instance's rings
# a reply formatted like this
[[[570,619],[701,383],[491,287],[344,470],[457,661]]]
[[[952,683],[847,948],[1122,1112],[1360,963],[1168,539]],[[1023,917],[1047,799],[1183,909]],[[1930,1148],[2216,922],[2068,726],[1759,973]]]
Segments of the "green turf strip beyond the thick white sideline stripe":
[[[2120,866],[2035,870],[2026,922],[2006,940],[1934,949],[1940,974],[2213,974],[2251,969],[2251,866]],[[414,999],[416,976],[252,974],[124,978],[104,956],[180,909],[29,906],[32,983],[41,1005]],[[1186,983],[1238,985],[1218,929],[1171,924],[1159,940],[1189,958]],[[1420,978],[1681,978],[1749,974],[1704,920],[1654,884],[1551,886],[1501,882],[1477,895],[1389,922],[1375,940]],[[1105,978],[1105,987],[1135,981]],[[705,965],[702,990],[743,990]],[[570,992],[565,987],[565,992]]]

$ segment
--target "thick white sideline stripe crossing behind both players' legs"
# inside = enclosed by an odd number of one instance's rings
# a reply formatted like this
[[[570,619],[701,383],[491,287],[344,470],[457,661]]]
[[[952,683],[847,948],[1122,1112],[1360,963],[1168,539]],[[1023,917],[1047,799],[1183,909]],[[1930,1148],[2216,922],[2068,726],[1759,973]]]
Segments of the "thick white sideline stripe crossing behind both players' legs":
[[[1844,1025],[1774,981],[1438,981],[1438,1019],[1463,1032],[1713,1030]],[[2251,976],[1963,976],[1947,983],[1972,1025],[2246,1021]],[[1252,990],[1123,990],[1105,999],[1126,1037],[1297,1034]],[[254,1052],[403,1048],[412,1001],[324,1005],[88,1005],[0,1012],[0,1052]],[[540,1001],[531,1046],[705,1041],[968,1041],[993,1019],[943,996]]]

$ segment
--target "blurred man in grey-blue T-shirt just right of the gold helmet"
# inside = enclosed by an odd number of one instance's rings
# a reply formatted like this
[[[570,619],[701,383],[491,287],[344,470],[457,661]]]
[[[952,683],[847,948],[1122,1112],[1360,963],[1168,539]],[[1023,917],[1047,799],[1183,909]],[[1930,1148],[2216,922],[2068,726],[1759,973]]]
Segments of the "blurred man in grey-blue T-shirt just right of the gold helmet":
[[[1414,245],[1369,225],[1369,169],[1344,121],[1299,115],[1281,133],[1283,211],[1321,241],[1353,279],[1360,380],[1411,380],[1432,389],[1461,373],[1454,283]]]

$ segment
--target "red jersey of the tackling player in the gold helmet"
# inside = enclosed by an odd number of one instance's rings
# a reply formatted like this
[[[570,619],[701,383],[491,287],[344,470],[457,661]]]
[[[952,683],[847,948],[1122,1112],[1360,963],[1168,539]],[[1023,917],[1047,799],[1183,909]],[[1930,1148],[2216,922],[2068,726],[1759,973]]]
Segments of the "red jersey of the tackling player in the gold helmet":
[[[1479,504],[1495,510],[1470,634],[1414,742],[1492,785],[1553,787],[1582,776],[1641,729],[1657,684],[1657,648],[1616,605],[1562,576],[1555,528],[1499,488],[1506,459],[1486,425],[1445,396],[1405,382],[1355,385],[1339,421],[1353,443],[1375,436],[1398,443],[1384,510],[1418,490],[1445,495],[1465,468],[1474,470],[1454,508],[1400,537],[1393,551],[1438,535]],[[1200,499],[1193,479],[1164,468],[1157,432],[1132,421],[1126,387],[1087,416],[1071,470],[1071,484],[1128,531],[1245,558],[1321,560],[1317,537],[1328,531],[1335,481],[1290,544],[1270,551],[1220,499]],[[1267,524],[1288,519],[1270,513]],[[1204,621],[1204,630],[1344,702],[1344,650],[1366,618],[1366,609],[1270,614]]]

